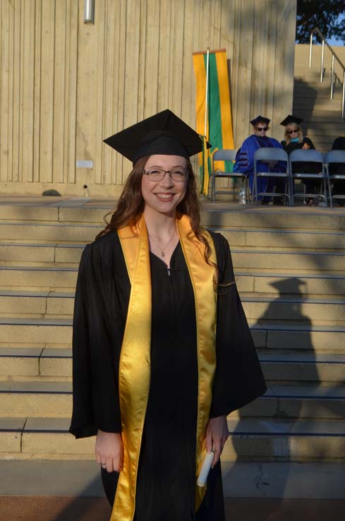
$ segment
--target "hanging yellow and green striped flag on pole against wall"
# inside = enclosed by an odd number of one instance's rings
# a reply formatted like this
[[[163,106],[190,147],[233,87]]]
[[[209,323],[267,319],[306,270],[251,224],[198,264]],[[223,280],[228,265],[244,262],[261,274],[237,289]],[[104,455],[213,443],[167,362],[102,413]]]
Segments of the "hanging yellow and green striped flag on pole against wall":
[[[207,195],[212,169],[212,152],[221,148],[234,149],[231,120],[230,89],[225,49],[194,52],[196,80],[196,131],[210,141],[212,148],[199,155],[201,193]],[[217,167],[232,172],[232,162],[219,161]]]

